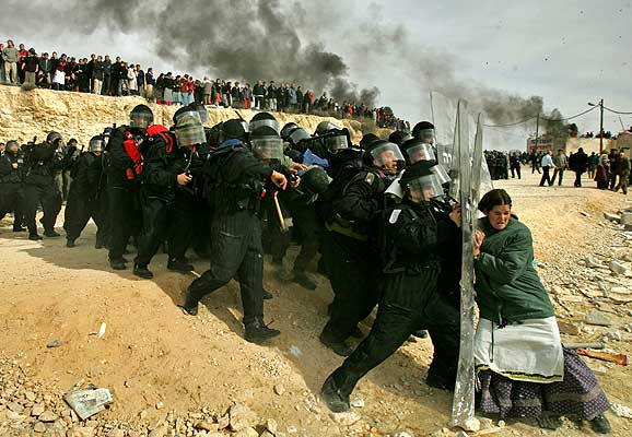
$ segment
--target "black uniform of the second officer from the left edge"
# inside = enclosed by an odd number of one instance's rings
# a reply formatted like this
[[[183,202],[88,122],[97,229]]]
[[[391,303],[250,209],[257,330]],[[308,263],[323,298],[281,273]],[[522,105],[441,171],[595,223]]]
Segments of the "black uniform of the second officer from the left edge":
[[[24,216],[31,237],[37,237],[35,216],[42,203],[44,235],[58,236],[55,221],[61,211],[61,192],[55,182],[56,172],[65,168],[63,157],[56,153],[56,144],[35,144],[26,150],[24,163]]]

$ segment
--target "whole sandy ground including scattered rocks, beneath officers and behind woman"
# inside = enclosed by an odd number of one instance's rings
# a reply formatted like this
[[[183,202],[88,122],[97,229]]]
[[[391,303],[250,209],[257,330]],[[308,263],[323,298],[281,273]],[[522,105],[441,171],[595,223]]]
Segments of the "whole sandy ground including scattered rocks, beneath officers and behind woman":
[[[510,191],[532,231],[564,341],[602,340],[607,351],[630,355],[632,233],[604,212],[631,204],[622,194],[574,189],[571,180],[540,188],[524,176],[496,186]],[[93,227],[67,249],[63,239],[33,243],[11,233],[8,220],[0,223],[0,436],[455,435],[445,428],[449,393],[422,381],[429,340],[406,344],[364,378],[352,414],[328,413],[318,390],[341,358],[318,342],[331,298],[323,277],[307,292],[278,282],[266,267],[266,287],[276,295],[266,304],[267,320],[282,335],[262,347],[242,339],[235,283],[204,299],[199,317],[185,317],[176,304],[192,275],[166,271],[160,255],[154,280],[141,281],[129,270],[109,270],[106,252],[93,245]],[[194,263],[198,272],[206,268],[203,260]],[[586,361],[610,401],[632,406],[629,367]],[[80,380],[114,395],[87,421],[62,399]],[[615,435],[632,434],[630,418],[608,415]],[[557,432],[510,421],[483,427],[469,435],[575,436],[580,429],[570,421]]]

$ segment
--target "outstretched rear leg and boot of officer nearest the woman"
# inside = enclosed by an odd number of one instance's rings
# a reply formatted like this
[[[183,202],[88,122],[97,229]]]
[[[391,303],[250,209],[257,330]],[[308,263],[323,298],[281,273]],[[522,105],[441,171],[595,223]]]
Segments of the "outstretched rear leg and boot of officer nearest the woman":
[[[417,324],[418,312],[381,304],[368,336],[323,385],[320,394],[329,409],[333,412],[348,411],[349,395],[358,381],[393,355]]]

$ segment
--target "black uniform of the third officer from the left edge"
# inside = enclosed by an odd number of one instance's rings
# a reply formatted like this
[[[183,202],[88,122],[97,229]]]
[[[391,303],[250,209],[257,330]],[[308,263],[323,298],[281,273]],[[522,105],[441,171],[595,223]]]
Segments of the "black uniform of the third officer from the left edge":
[[[83,153],[71,172],[72,182],[66,203],[63,229],[69,246],[81,235],[92,218],[96,224],[96,247],[107,246],[109,223],[107,220],[106,168],[107,156],[102,153]]]

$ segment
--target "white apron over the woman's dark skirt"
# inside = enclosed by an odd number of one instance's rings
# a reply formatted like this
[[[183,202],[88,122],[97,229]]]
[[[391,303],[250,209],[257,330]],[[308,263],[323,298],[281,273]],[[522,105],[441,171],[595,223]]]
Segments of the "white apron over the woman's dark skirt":
[[[490,369],[516,381],[561,381],[564,355],[555,317],[522,320],[504,328],[480,319],[475,362],[477,370]]]

